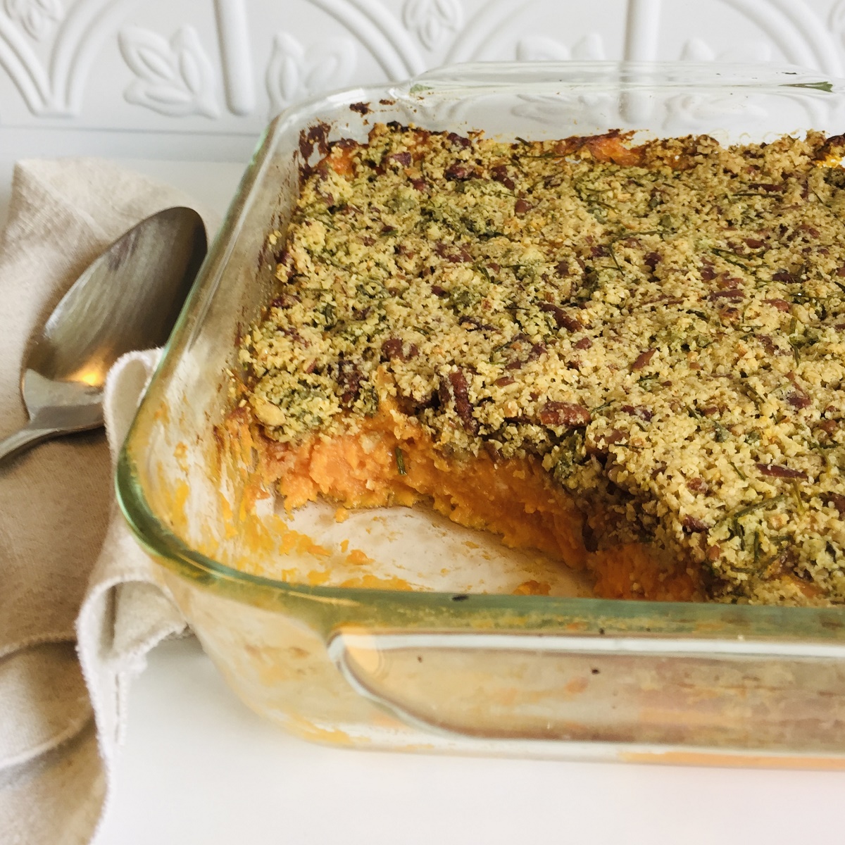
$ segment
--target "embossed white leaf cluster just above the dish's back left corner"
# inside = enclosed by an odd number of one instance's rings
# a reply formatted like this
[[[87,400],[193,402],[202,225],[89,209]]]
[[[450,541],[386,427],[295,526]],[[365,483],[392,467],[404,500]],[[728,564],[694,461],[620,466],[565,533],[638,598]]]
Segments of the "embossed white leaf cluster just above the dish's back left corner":
[[[281,112],[305,97],[343,87],[355,63],[355,46],[348,38],[326,38],[303,47],[292,35],[277,33],[265,80],[271,113]]]

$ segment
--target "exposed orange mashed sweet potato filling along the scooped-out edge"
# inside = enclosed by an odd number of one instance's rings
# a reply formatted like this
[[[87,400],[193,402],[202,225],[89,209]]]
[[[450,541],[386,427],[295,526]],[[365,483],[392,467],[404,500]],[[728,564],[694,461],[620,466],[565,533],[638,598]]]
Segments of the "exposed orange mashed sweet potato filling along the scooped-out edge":
[[[646,543],[587,551],[575,502],[538,461],[497,461],[486,452],[445,455],[395,408],[383,409],[355,433],[317,435],[295,448],[264,439],[260,451],[264,473],[279,479],[288,510],[319,497],[349,508],[427,502],[462,526],[499,534],[506,546],[536,548],[572,569],[586,568],[599,597],[701,597],[692,570],[667,565]]]

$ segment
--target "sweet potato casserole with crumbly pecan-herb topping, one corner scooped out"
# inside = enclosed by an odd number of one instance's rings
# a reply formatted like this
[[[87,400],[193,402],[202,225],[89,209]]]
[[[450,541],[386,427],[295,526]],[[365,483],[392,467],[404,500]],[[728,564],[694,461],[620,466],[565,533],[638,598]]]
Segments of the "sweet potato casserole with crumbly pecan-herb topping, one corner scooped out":
[[[845,602],[843,153],[331,144],[242,340],[264,476],[432,503],[604,597]]]

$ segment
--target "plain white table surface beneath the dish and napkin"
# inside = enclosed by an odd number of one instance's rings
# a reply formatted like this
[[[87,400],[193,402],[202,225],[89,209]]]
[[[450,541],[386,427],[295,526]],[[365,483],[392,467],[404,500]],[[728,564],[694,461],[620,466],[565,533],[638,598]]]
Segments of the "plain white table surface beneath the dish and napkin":
[[[145,161],[43,135],[0,150],[0,218],[23,155],[112,154],[223,210],[241,163]],[[37,143],[36,143],[37,142]],[[235,142],[241,160],[248,142]],[[3,366],[17,366],[4,362]],[[845,772],[498,760],[324,748],[237,701],[193,639],[130,696],[98,845],[780,845],[845,842]]]

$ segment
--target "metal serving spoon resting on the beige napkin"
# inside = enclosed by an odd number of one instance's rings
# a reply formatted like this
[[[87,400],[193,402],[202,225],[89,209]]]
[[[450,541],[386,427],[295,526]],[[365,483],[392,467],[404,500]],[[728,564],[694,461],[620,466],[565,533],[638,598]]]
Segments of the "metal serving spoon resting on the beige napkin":
[[[20,386],[30,422],[0,441],[0,461],[103,424],[106,373],[124,352],[167,340],[205,250],[202,218],[171,208],[141,221],[90,264],[30,343]]]

